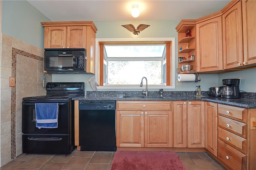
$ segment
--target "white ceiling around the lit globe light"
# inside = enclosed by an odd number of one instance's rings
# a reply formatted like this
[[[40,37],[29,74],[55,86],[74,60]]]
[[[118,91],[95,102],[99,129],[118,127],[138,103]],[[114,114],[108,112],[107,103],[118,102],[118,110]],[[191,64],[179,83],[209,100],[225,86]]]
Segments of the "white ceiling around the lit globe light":
[[[197,19],[230,0],[27,0],[51,21],[154,21]],[[130,14],[140,6],[140,16]]]

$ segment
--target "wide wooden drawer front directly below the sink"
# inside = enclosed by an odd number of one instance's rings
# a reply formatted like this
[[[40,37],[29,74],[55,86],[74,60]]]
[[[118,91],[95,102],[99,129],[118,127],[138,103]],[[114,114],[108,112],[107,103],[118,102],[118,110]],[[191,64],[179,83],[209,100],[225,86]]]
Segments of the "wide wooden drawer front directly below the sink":
[[[171,111],[170,101],[116,101],[117,110],[163,110]]]

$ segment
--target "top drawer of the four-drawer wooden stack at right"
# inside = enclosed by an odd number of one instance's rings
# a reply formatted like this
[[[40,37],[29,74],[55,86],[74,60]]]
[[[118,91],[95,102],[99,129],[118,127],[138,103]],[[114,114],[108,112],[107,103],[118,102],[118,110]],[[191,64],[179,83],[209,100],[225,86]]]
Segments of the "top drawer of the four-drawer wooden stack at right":
[[[246,109],[218,104],[218,114],[246,123]]]

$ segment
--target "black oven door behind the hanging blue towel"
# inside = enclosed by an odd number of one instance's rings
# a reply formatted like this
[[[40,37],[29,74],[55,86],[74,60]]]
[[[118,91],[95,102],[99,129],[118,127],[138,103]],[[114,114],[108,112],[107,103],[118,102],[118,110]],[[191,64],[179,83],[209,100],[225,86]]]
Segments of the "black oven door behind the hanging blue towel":
[[[36,110],[35,101],[22,102],[22,133],[24,134],[69,134],[74,125],[74,104],[72,100],[53,101],[43,100],[38,103],[58,103],[58,127],[57,128],[37,128],[36,127]]]

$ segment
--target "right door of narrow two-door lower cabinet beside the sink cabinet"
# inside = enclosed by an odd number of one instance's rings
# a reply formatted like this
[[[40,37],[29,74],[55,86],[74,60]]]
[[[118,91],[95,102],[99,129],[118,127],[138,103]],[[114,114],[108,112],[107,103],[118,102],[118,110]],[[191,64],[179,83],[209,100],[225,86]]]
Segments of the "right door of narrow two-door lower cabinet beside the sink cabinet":
[[[204,102],[188,101],[188,148],[204,148]]]

